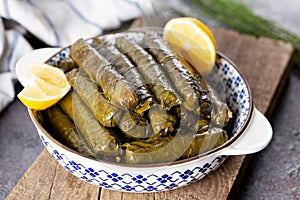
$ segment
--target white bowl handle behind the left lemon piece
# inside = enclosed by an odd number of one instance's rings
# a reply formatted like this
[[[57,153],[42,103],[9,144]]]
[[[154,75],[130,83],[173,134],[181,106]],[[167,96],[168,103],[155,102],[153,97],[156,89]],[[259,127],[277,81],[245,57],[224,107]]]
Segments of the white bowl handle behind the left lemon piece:
[[[59,50],[61,50],[61,48],[41,48],[33,50],[22,56],[16,64],[16,75],[20,83],[24,87],[28,85],[27,81],[24,80],[22,76],[26,70],[26,67],[32,63],[44,63]]]

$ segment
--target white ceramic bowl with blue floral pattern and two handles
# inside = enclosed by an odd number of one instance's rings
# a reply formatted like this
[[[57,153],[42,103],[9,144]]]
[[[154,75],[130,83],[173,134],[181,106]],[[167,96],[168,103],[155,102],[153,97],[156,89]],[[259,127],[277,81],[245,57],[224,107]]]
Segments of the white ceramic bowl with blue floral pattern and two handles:
[[[30,62],[57,62],[68,56],[69,48],[39,49],[25,55],[17,64],[17,76]],[[123,192],[157,192],[188,185],[218,168],[228,155],[241,155],[264,149],[272,138],[268,120],[253,106],[250,88],[237,67],[218,54],[217,73],[224,81],[227,101],[236,115],[232,137],[223,145],[199,156],[168,164],[126,165],[96,160],[79,154],[55,140],[30,117],[49,153],[66,170],[97,186]],[[20,77],[20,76],[19,76]],[[20,80],[22,83],[22,80]]]

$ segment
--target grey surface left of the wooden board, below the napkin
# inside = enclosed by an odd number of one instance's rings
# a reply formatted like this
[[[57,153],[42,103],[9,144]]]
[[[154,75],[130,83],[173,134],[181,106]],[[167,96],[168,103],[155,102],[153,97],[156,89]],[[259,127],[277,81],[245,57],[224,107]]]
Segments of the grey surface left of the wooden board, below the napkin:
[[[0,113],[0,199],[9,194],[42,149],[27,109],[15,100]]]

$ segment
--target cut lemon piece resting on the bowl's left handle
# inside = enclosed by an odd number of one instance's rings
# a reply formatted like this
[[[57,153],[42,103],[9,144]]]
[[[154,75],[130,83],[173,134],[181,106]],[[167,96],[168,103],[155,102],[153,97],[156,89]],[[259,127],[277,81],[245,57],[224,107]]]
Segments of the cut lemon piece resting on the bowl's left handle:
[[[54,105],[71,88],[63,71],[44,63],[31,64],[21,76],[28,84],[18,98],[25,106],[36,110]]]

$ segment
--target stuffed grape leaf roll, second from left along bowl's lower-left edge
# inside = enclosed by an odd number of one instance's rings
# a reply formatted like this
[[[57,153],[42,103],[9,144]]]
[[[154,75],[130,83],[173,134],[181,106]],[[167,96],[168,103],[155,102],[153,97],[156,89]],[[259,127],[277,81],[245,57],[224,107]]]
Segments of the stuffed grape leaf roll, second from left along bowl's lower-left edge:
[[[106,157],[117,158],[121,152],[117,138],[110,130],[99,124],[93,113],[76,92],[73,92],[72,97],[74,123],[88,149],[98,159]]]

